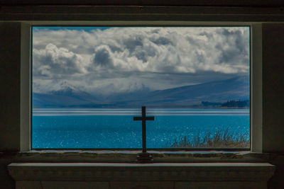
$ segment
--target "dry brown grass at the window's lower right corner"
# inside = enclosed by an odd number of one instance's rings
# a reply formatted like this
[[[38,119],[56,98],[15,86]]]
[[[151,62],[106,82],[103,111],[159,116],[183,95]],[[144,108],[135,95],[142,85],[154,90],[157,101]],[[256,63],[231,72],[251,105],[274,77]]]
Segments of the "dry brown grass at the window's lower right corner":
[[[204,137],[197,134],[192,140],[182,137],[166,145],[170,148],[249,148],[249,134],[235,134],[229,130],[208,132]]]

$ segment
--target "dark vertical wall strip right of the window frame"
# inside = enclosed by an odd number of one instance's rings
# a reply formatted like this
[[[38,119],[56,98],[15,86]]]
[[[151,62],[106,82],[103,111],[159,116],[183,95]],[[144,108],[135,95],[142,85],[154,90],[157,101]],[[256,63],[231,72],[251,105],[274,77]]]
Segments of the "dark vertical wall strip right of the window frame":
[[[284,24],[263,24],[263,152],[284,151]]]

